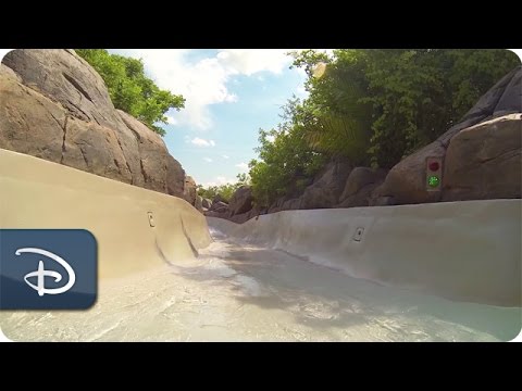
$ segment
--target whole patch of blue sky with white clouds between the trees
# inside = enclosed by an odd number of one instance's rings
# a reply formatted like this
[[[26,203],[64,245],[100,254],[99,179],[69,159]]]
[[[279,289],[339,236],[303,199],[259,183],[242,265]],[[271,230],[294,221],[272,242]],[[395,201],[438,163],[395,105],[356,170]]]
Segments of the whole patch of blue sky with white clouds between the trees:
[[[141,58],[161,88],[186,98],[185,109],[167,112],[164,141],[203,186],[235,181],[247,172],[259,128],[274,127],[287,99],[306,94],[306,75],[289,70],[288,49],[109,51]]]

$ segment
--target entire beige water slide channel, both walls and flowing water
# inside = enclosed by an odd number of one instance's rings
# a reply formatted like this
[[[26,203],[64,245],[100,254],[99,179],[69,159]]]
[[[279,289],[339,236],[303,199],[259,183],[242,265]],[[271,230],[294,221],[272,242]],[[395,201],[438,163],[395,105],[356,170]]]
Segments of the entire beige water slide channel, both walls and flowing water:
[[[521,201],[287,211],[243,225],[0,150],[1,228],[86,228],[87,311],[0,312],[15,341],[507,341]]]

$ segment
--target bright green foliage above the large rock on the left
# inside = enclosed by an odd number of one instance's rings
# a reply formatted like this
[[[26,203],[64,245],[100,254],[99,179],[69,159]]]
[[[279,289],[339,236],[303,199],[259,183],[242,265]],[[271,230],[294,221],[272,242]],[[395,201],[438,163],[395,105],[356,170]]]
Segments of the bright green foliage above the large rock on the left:
[[[141,60],[110,54],[104,49],[76,49],[105,81],[116,109],[140,119],[156,133],[164,136],[158,123],[166,124],[169,109],[179,110],[185,104],[181,94],[160,89],[145,75]]]

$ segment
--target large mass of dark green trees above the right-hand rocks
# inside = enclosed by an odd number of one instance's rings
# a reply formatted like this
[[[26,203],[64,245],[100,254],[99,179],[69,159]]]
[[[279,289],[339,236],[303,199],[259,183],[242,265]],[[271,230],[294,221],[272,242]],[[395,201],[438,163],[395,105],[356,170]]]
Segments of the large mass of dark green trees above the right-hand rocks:
[[[293,66],[308,75],[309,96],[289,100],[282,124],[259,131],[250,176],[262,202],[293,192],[335,156],[390,168],[444,134],[520,65],[507,50],[340,49],[332,56],[314,50],[291,55]]]

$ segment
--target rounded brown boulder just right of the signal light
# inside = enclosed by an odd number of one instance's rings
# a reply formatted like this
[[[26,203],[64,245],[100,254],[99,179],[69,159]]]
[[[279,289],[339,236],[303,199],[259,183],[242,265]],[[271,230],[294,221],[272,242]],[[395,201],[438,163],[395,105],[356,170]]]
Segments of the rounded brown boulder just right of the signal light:
[[[460,131],[446,152],[443,201],[521,198],[522,114]]]

